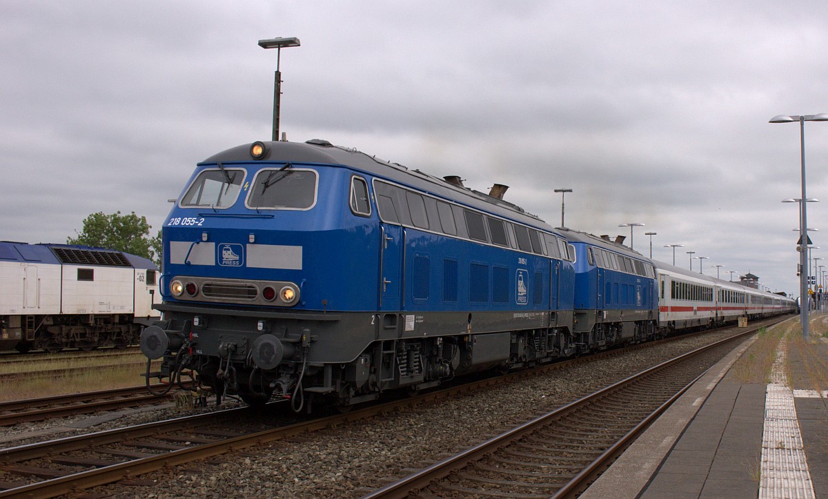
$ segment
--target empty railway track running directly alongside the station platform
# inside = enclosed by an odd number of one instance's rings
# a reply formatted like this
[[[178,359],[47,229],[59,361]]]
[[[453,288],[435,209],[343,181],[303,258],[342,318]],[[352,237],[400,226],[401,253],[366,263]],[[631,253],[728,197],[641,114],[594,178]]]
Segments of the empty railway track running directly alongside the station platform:
[[[663,362],[393,482],[390,497],[575,497],[719,361],[730,337]]]

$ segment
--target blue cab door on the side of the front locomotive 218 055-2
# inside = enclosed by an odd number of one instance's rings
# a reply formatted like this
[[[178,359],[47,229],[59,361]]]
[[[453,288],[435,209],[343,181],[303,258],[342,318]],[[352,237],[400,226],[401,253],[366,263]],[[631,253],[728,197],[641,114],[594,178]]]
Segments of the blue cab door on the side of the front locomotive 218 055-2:
[[[379,309],[402,310],[406,232],[400,225],[381,223],[379,227]]]

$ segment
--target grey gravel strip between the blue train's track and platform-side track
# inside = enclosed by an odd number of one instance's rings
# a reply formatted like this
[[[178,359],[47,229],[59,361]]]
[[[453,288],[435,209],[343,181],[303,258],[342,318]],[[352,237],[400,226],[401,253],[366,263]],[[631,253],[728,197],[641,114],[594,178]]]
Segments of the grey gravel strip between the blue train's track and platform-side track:
[[[504,383],[428,408],[405,409],[141,477],[156,486],[115,484],[85,493],[152,498],[360,497],[393,479],[503,433],[515,424],[725,336],[729,334],[714,332],[683,338]],[[171,415],[181,414],[172,409],[154,409],[95,429]],[[65,425],[65,421],[60,424]]]

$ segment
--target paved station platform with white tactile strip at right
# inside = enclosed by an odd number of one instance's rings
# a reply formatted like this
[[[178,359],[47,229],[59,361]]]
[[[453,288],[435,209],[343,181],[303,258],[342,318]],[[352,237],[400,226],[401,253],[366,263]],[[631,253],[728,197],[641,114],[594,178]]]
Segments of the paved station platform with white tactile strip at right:
[[[828,340],[811,332],[806,352],[780,347],[770,379],[744,382],[731,367],[755,354],[756,338],[707,371],[580,497],[828,497]]]

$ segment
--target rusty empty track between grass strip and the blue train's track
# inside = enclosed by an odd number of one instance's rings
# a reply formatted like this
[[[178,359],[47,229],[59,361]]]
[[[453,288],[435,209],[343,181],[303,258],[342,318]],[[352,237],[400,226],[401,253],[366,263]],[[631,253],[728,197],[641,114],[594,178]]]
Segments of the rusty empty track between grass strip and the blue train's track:
[[[153,389],[162,390],[165,387],[166,385],[154,385]],[[172,392],[162,397],[150,395],[147,387],[141,385],[40,399],[11,400],[0,402],[0,426],[158,404],[171,397]]]

